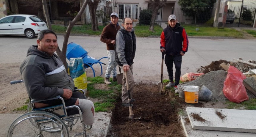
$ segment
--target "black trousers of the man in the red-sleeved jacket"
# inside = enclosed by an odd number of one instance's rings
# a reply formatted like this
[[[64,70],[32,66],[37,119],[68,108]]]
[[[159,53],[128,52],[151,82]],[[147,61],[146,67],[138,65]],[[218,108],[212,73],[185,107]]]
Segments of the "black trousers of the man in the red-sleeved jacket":
[[[165,56],[165,64],[167,67],[167,72],[169,75],[169,80],[170,82],[173,81],[173,63],[175,65],[175,85],[179,84],[179,79],[181,75],[181,62],[182,62],[182,56],[172,56],[172,55],[167,55]]]

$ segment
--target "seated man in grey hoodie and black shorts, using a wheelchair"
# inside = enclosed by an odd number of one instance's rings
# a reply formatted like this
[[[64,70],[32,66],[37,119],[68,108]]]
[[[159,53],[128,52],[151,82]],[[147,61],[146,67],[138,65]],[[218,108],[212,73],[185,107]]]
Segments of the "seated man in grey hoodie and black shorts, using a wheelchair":
[[[26,59],[20,67],[29,97],[34,100],[47,100],[34,103],[35,108],[61,104],[59,99],[48,100],[60,95],[65,100],[65,106],[79,106],[85,125],[93,125],[93,102],[86,100],[81,92],[73,92],[74,81],[66,72],[63,62],[54,54],[58,48],[56,34],[51,30],[41,31],[37,44],[28,49]],[[78,114],[78,110],[67,109],[67,113]]]

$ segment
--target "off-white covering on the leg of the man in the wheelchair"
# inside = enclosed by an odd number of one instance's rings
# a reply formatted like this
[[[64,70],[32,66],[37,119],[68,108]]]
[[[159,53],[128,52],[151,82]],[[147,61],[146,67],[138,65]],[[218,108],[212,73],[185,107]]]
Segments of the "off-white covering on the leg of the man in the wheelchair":
[[[85,125],[93,125],[94,123],[94,104],[90,100],[78,99],[79,107],[83,113],[83,121]]]

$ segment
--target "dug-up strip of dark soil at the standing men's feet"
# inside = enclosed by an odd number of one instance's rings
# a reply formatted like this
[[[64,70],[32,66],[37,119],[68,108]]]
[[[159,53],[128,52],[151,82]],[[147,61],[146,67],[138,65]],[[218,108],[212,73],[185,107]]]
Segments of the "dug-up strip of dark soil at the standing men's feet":
[[[141,119],[127,119],[129,108],[122,106],[119,100],[113,110],[107,137],[185,137],[178,112],[183,112],[188,106],[202,107],[203,103],[187,104],[170,89],[165,95],[157,91],[157,85],[135,85],[132,98],[136,101],[132,109],[134,118]]]

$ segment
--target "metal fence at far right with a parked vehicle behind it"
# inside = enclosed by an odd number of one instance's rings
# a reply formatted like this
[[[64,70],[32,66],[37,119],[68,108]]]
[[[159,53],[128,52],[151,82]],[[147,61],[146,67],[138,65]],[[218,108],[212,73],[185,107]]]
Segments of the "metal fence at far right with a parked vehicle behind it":
[[[241,9],[241,6],[228,6],[230,12],[235,13],[235,20],[227,22],[226,26],[230,27],[252,27],[256,15],[256,6],[246,6]]]

